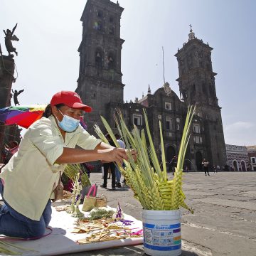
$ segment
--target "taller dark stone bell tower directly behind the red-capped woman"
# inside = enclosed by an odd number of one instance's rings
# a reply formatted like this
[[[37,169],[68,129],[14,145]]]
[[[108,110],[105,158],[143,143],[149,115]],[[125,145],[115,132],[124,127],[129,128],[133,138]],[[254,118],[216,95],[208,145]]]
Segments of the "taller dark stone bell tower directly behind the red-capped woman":
[[[110,102],[122,104],[123,90],[120,18],[124,9],[110,0],[87,0],[82,13],[82,41],[78,48],[80,69],[76,92],[92,112],[85,115],[88,132],[100,115],[109,119]]]

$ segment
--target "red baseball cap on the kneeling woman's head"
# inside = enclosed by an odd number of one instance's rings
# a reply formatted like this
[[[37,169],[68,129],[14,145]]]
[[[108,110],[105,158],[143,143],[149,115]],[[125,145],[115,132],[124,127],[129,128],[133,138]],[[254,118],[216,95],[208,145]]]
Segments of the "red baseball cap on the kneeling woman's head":
[[[58,104],[65,104],[68,107],[72,107],[77,110],[83,110],[85,112],[91,112],[92,108],[82,104],[80,96],[76,92],[61,91],[55,93],[50,100],[50,105],[55,106]]]

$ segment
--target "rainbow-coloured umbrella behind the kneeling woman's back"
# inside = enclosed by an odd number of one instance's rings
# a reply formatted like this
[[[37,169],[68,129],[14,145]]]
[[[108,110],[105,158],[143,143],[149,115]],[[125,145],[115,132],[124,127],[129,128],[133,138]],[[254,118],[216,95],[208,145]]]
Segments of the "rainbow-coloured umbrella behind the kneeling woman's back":
[[[28,128],[42,117],[45,109],[46,105],[4,107],[0,109],[0,122],[6,125],[18,124]]]

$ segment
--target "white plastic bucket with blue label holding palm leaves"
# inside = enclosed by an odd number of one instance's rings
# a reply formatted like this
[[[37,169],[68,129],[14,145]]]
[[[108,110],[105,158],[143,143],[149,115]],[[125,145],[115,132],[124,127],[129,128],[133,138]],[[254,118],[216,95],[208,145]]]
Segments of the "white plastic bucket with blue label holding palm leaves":
[[[181,255],[181,210],[142,210],[144,252]]]

